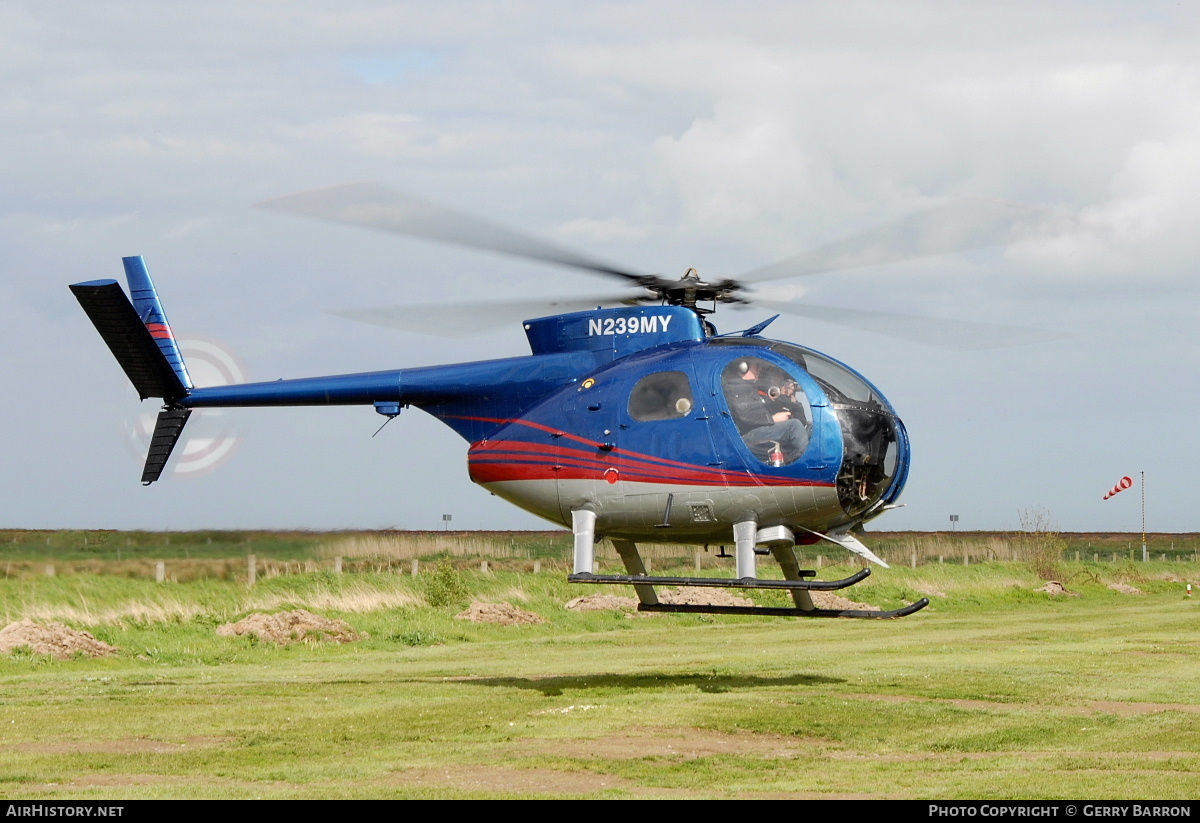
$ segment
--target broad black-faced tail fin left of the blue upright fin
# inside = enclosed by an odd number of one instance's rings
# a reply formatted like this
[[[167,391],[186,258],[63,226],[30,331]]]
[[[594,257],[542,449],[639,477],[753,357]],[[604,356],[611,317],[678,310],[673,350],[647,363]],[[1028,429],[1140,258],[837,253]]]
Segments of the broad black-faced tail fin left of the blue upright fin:
[[[76,283],[71,286],[71,292],[142,400],[163,397],[172,401],[187,395],[187,389],[116,281]]]

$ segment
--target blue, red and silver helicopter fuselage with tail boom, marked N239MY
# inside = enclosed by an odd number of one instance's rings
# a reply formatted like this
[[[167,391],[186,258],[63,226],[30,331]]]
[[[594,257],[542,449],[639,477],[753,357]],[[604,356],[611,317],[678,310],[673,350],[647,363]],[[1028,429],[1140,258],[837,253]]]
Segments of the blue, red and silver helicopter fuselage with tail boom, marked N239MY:
[[[181,408],[415,406],[469,444],[472,479],[596,533],[728,542],[749,515],[845,531],[894,504],[908,440],[860,374],[757,335],[713,336],[692,310],[637,306],[527,320],[523,358],[190,389]],[[816,537],[814,537],[816,539]]]

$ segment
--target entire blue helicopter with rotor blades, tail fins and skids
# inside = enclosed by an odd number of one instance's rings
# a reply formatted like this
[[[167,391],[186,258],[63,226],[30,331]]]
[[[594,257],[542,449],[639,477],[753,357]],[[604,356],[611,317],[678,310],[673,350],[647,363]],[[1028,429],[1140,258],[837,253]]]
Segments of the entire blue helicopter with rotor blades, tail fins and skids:
[[[868,563],[864,523],[899,506],[911,464],[908,435],[880,390],[815,349],[764,337],[779,317],[720,334],[719,305],[758,305],[928,342],[920,318],[768,300],[750,284],[1008,242],[1028,210],[962,202],[910,215],[738,278],[708,281],[640,274],[538,240],[374,182],[292,194],[264,208],[581,269],[624,282],[620,294],[559,301],[577,308],[522,323],[530,354],[444,366],[269,383],[196,386],[140,257],[124,258],[128,295],[115,280],[70,288],[142,400],[161,398],[142,474],[161,476],[194,409],[214,407],[372,407],[385,423],[421,409],[468,444],[470,479],[572,533],[572,583],[631,585],[638,609],[718,614],[887,619],[894,611],[818,608],[811,591],[848,588],[870,566],[817,579],[794,547],[828,542]],[[572,305],[574,304],[574,305]],[[487,301],[458,317],[504,316],[538,305]],[[428,307],[338,312],[406,326]],[[1043,332],[956,324],[982,344],[1014,344]],[[596,573],[607,537],[624,575]],[[654,576],[638,543],[734,547],[734,577]],[[758,575],[760,557],[782,579]],[[655,587],[775,589],[792,607],[662,602]]]

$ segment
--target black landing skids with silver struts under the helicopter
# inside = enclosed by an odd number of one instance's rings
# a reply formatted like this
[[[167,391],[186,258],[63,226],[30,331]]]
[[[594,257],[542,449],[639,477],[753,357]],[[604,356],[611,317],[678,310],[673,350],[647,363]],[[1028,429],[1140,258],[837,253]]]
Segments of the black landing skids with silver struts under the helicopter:
[[[772,527],[760,529],[758,524],[751,519],[736,523],[733,525],[733,537],[737,546],[737,577],[662,577],[647,573],[646,564],[637,551],[637,546],[631,540],[613,537],[612,543],[625,564],[628,575],[596,575],[594,573],[596,541],[595,521],[596,516],[589,510],[577,510],[571,512],[571,525],[575,534],[575,572],[568,576],[570,583],[604,583],[616,585],[632,585],[637,593],[637,611],[640,612],[674,612],[683,614],[755,614],[763,617],[823,617],[823,618],[859,618],[866,620],[889,620],[907,617],[913,612],[929,606],[929,599],[922,597],[914,603],[889,612],[874,612],[856,608],[817,608],[812,602],[809,591],[836,591],[854,583],[866,579],[871,570],[863,569],[858,573],[836,581],[811,579],[816,572],[809,569],[800,569],[796,557],[796,537],[787,527]],[[832,537],[828,537],[833,540]],[[838,542],[838,541],[834,541]],[[857,541],[856,541],[857,542]],[[784,578],[762,579],[755,569],[756,554],[761,553],[762,546],[779,563],[784,572]],[[857,549],[852,549],[857,551]],[[870,551],[863,547],[868,555]],[[863,553],[858,552],[858,553]],[[664,603],[659,601],[655,585],[677,585],[686,588],[720,588],[720,589],[774,589],[787,591],[796,603],[794,608],[780,608],[770,606],[710,606],[694,603]]]

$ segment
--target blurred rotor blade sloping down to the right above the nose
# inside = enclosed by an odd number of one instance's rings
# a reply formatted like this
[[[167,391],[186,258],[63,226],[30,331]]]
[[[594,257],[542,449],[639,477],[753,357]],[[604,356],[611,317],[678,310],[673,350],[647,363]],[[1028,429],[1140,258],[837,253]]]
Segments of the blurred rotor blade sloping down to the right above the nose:
[[[834,306],[814,306],[811,304],[757,300],[754,298],[751,298],[751,301],[756,306],[762,306],[772,311],[809,317],[823,323],[850,326],[859,331],[871,331],[888,337],[899,337],[900,340],[950,349],[952,352],[1007,348],[1068,337],[1066,334],[1043,329],[1024,329],[994,323],[943,320],[941,318],[917,317],[913,314],[869,312],[860,308],[836,308]]]

